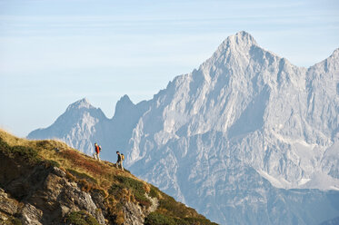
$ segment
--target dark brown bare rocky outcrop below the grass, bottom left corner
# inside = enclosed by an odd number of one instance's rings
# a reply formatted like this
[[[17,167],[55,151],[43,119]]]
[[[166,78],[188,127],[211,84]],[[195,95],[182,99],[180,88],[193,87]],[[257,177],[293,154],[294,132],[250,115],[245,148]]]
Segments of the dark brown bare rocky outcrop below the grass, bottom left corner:
[[[99,224],[105,224],[102,209],[91,194],[69,181],[65,171],[39,165],[26,175],[7,183],[1,181],[5,184],[5,190],[0,190],[3,220],[16,217],[23,224],[61,224],[71,211],[85,210]]]

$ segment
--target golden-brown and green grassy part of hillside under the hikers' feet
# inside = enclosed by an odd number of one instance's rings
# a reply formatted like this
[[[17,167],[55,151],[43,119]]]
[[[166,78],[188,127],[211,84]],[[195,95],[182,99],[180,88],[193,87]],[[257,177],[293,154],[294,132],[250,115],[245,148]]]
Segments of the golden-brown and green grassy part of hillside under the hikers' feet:
[[[104,196],[103,204],[109,214],[106,218],[110,218],[106,222],[109,224],[124,224],[123,205],[126,202],[134,202],[152,211],[145,218],[145,224],[215,224],[129,171],[118,170],[109,161],[95,161],[64,142],[28,141],[0,130],[0,154],[7,161],[13,160],[25,167],[58,167],[65,171],[68,180],[78,183],[82,191],[99,192]],[[156,207],[153,201],[157,202],[156,210],[150,209]],[[67,220],[72,224],[95,224],[95,219],[85,211],[72,212]]]

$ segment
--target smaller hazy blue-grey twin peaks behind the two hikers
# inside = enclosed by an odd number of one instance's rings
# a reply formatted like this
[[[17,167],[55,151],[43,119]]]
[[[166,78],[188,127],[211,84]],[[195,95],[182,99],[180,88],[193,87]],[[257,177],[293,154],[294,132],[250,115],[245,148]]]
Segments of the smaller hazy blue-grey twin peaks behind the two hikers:
[[[125,150],[138,118],[146,111],[147,102],[134,104],[127,95],[115,106],[115,115],[108,119],[100,108],[95,108],[87,99],[70,104],[57,120],[45,129],[37,129],[27,136],[32,140],[55,139],[86,154],[94,152],[98,142],[101,156],[115,161],[115,150]]]

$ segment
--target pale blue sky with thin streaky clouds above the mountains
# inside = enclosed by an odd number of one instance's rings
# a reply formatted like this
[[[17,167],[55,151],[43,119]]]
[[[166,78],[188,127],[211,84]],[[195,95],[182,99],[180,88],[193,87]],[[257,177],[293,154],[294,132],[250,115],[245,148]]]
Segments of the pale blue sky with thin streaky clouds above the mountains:
[[[339,1],[0,0],[0,128],[25,137],[82,98],[112,118],[239,31],[309,67],[339,48]]]

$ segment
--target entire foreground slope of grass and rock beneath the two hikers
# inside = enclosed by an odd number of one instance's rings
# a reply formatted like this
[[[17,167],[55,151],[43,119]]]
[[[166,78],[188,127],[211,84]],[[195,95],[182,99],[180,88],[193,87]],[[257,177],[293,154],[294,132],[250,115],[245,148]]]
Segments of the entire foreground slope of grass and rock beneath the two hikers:
[[[27,141],[0,130],[0,170],[0,224],[216,225],[64,142]]]

